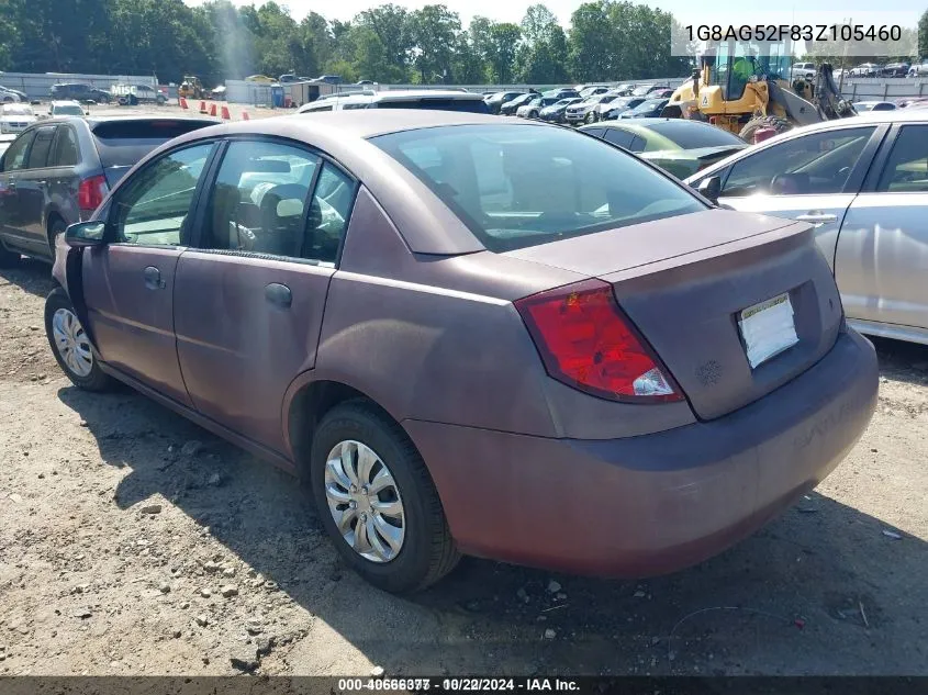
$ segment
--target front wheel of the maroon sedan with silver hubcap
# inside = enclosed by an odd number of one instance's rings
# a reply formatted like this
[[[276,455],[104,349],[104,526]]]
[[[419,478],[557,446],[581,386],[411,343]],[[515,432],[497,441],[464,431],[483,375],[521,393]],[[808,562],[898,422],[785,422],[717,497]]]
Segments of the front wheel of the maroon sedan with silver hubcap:
[[[58,367],[71,383],[85,391],[109,391],[114,380],[100,369],[90,339],[62,288],[45,300],[45,335]]]

